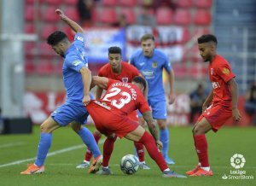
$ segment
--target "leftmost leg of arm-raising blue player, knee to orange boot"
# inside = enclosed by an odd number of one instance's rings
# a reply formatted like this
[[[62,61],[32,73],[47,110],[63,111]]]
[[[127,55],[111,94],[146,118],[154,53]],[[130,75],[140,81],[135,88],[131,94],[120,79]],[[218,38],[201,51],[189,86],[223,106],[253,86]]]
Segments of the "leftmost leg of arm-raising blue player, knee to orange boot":
[[[34,164],[29,165],[26,171],[21,171],[20,174],[35,174],[44,172],[44,160],[46,159],[46,155],[52,141],[51,132],[55,131],[55,129],[59,127],[60,125],[58,125],[51,117],[44,121],[44,123],[40,126],[41,137],[38,145],[37,159]]]

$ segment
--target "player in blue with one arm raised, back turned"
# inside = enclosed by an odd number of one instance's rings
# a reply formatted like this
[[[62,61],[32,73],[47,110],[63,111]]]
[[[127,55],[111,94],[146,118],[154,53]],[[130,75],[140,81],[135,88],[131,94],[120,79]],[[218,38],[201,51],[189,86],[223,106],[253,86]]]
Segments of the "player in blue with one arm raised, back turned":
[[[76,22],[64,15],[61,9],[56,9],[55,12],[60,16],[61,20],[76,32],[73,44],[70,43],[67,35],[61,31],[53,32],[47,38],[47,43],[55,50],[55,53],[64,58],[62,74],[67,91],[67,100],[61,107],[51,113],[49,118],[41,125],[37,159],[34,164],[29,165],[26,171],[21,171],[20,174],[44,172],[44,160],[52,141],[52,132],[69,123],[82,138],[84,144],[92,151],[95,159],[92,166],[90,166],[89,172],[95,173],[102,164],[102,154],[92,133],[81,126],[87,121],[89,113],[84,106],[90,103],[91,98],[91,73],[85,57],[84,30]]]

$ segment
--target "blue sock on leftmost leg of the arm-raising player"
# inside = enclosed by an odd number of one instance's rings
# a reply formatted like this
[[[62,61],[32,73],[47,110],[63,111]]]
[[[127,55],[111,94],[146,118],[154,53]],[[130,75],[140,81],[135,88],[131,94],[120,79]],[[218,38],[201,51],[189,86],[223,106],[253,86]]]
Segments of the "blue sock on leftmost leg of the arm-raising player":
[[[38,144],[38,156],[35,164],[37,166],[43,166],[44,160],[48,153],[50,144],[52,140],[52,133],[41,133],[40,141]]]

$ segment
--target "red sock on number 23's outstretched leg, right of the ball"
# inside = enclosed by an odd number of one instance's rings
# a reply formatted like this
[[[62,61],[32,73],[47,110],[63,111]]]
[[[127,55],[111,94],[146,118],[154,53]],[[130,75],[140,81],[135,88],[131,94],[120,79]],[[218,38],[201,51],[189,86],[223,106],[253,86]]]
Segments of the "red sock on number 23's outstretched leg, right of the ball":
[[[140,139],[139,142],[143,143],[143,145],[148,151],[148,154],[155,161],[155,163],[160,167],[161,171],[164,171],[168,168],[163,155],[160,153],[160,151],[156,147],[154,138],[148,133],[148,131],[144,132],[143,137]]]

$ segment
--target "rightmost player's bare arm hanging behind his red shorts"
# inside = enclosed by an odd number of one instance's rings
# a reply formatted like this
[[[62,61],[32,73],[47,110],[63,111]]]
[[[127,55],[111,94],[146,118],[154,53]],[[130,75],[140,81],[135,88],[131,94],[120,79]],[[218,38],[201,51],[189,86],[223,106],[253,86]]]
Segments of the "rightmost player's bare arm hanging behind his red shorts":
[[[230,85],[230,91],[231,91],[231,96],[232,96],[232,114],[233,114],[233,118],[236,121],[239,121],[241,119],[241,114],[239,113],[239,110],[237,108],[238,85],[236,84],[235,78],[231,78],[230,81],[228,81],[228,84]]]

